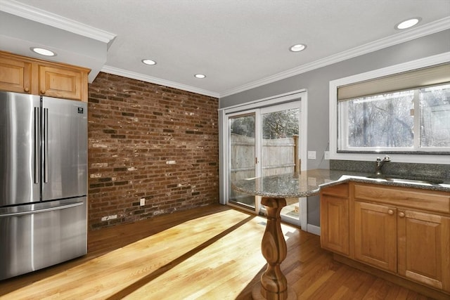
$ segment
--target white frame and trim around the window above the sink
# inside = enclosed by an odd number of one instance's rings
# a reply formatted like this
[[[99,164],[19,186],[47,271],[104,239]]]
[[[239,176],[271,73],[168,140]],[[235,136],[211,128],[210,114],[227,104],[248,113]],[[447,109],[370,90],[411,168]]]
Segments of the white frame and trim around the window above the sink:
[[[429,67],[432,65],[438,65],[440,63],[450,62],[450,52],[442,53],[436,56],[430,56],[427,58],[421,58],[419,60],[413,60],[407,63],[401,63],[399,65],[392,65],[390,67],[385,67],[378,70],[373,70],[361,74],[355,74],[349,77],[336,79],[330,81],[330,107],[329,107],[329,117],[330,117],[330,159],[341,159],[341,160],[357,160],[357,161],[371,161],[375,160],[382,154],[389,153],[390,157],[394,162],[414,162],[414,163],[426,163],[426,164],[450,164],[449,154],[445,152],[427,152],[427,151],[417,151],[404,150],[404,152],[399,152],[403,150],[386,150],[386,149],[373,149],[362,150],[361,152],[352,151],[339,151],[338,144],[341,143],[340,138],[338,138],[338,87],[345,86],[347,84],[354,84],[359,81],[366,81],[370,79],[375,79],[378,77],[385,77],[388,75],[407,72],[423,67]],[[415,107],[416,108],[416,107]],[[416,120],[415,120],[416,122]],[[346,126],[346,122],[341,122],[342,126]],[[342,128],[341,128],[342,130]],[[346,130],[345,130],[346,131]],[[344,131],[342,131],[344,132]],[[416,141],[415,141],[416,144]]]

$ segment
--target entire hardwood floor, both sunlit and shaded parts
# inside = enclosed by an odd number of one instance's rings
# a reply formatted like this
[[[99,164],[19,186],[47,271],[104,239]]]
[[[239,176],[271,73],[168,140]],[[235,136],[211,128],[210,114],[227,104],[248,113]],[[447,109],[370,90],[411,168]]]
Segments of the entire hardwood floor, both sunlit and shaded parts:
[[[89,233],[89,254],[0,281],[0,299],[250,299],[265,269],[265,219],[212,205]],[[333,261],[319,237],[282,226],[298,299],[429,299]]]

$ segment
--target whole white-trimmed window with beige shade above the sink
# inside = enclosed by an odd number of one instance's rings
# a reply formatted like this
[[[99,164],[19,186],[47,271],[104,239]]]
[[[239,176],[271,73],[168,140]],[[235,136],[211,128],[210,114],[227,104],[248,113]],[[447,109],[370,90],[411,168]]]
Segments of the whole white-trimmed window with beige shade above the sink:
[[[330,81],[330,158],[450,164],[450,53]]]

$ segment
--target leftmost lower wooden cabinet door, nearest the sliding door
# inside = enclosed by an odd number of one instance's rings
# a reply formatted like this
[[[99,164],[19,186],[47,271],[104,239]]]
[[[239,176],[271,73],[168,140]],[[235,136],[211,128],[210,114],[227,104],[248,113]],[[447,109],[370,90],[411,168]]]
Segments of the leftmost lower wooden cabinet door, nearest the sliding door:
[[[349,200],[321,195],[321,246],[349,255]]]

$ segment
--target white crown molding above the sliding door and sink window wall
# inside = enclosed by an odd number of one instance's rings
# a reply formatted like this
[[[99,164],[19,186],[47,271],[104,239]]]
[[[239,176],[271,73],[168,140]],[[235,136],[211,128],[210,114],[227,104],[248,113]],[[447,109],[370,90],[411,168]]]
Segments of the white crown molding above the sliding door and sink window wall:
[[[258,86],[264,86],[265,84],[271,84],[272,82],[286,79],[289,77],[293,77],[298,74],[302,74],[305,72],[309,72],[311,70],[319,69],[319,67],[326,67],[327,65],[332,65],[333,63],[339,63],[343,60],[347,60],[349,58],[354,58],[356,56],[362,56],[367,53],[371,53],[373,51],[377,51],[383,48],[387,48],[390,46],[394,46],[397,44],[404,43],[406,41],[411,41],[413,39],[418,39],[419,37],[425,37],[426,35],[433,34],[436,32],[441,32],[443,30],[448,30],[450,28],[450,17],[446,17],[435,22],[430,22],[427,25],[423,25],[406,32],[400,32],[398,34],[394,34],[390,37],[385,37],[383,39],[378,39],[377,41],[372,41],[368,44],[364,44],[362,46],[358,46],[348,51],[343,51],[337,53],[333,56],[328,56],[326,58],[322,58],[320,60],[316,60],[312,63],[307,63],[304,65],[300,65],[298,67],[294,67],[293,69],[286,70],[280,72],[278,74],[271,75],[269,77],[265,77],[263,79],[250,82],[249,84],[244,84],[242,86],[238,86],[234,89],[230,89],[228,91],[224,91],[220,94],[220,98],[231,96],[235,93],[240,93],[243,91],[247,91],[249,89],[255,89]]]

